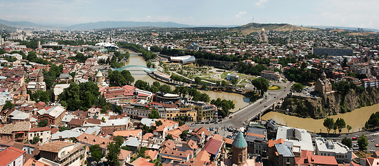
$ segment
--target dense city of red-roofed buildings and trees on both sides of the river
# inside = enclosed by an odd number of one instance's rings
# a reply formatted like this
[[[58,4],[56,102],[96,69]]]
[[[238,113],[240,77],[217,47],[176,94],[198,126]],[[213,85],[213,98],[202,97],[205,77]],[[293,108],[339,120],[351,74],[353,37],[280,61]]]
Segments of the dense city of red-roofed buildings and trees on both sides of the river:
[[[358,151],[351,138],[349,145],[260,119],[285,98],[346,92],[344,82],[347,90],[377,88],[375,34],[18,29],[2,32],[0,42],[0,165],[379,163],[378,151],[364,151],[365,136]],[[132,56],[147,65],[133,64]],[[135,80],[136,71],[156,82]],[[275,93],[269,89],[284,97],[268,103]],[[264,106],[257,113],[233,110],[236,103],[209,91],[243,94]],[[237,126],[236,118],[246,121]]]

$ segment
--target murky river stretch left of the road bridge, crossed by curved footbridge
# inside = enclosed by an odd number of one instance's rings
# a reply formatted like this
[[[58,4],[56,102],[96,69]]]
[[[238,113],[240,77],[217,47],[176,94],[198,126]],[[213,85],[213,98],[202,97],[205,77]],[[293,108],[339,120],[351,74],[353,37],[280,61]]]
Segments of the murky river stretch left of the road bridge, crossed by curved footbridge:
[[[132,50],[127,50],[129,53],[133,53]],[[138,66],[146,66],[147,62],[145,62],[145,59],[143,57],[138,55],[130,55],[129,60],[126,63],[126,66],[128,65],[138,65]],[[145,82],[149,82],[149,84],[153,84],[153,82],[156,82],[157,80],[154,80],[151,78],[147,73],[144,71],[131,71],[131,75],[134,77],[134,81],[136,80],[143,80]],[[163,82],[160,82],[161,84],[164,84]],[[175,87],[172,86],[172,89],[174,90]],[[245,98],[243,95],[237,94],[237,93],[227,93],[227,92],[214,92],[214,91],[203,91],[198,90],[201,93],[207,93],[210,95],[210,99],[216,99],[221,98],[222,100],[232,100],[234,103],[235,108],[230,110],[230,112],[238,111],[239,109],[242,109],[243,107],[248,106],[250,104],[250,100],[248,98]]]

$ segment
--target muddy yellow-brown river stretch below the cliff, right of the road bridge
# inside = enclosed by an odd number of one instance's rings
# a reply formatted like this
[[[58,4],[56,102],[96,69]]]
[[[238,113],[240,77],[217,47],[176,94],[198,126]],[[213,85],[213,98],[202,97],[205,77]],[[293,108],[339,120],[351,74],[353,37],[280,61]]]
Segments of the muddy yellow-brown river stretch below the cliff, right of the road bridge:
[[[374,104],[369,107],[362,107],[360,109],[355,109],[348,113],[339,113],[335,116],[328,116],[337,120],[337,118],[343,118],[346,125],[351,126],[350,132],[362,131],[364,123],[369,120],[372,113],[379,111],[379,104]],[[296,116],[288,116],[283,113],[271,111],[266,113],[261,117],[262,120],[274,119],[279,124],[287,125],[288,127],[296,127],[300,129],[306,129],[314,133],[327,133],[326,128],[323,125],[324,119],[312,119],[312,118],[299,118]],[[333,132],[333,130],[331,131]],[[342,133],[347,133],[347,129],[342,129]],[[337,131],[338,133],[338,131]]]

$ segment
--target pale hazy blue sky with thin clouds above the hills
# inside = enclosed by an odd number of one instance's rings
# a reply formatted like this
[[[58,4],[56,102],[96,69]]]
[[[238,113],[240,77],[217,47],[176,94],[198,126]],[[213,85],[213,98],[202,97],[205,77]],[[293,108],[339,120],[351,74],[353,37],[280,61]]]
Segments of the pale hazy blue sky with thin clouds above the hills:
[[[193,26],[287,23],[379,29],[378,0],[0,0],[0,19],[44,25],[172,21]]]

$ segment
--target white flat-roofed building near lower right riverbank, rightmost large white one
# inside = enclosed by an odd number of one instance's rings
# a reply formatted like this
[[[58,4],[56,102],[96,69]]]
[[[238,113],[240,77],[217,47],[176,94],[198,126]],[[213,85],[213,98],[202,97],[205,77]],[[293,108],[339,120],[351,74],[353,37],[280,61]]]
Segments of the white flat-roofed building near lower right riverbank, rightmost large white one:
[[[316,138],[316,154],[321,156],[334,156],[338,163],[350,163],[352,151],[346,145],[326,138]]]

